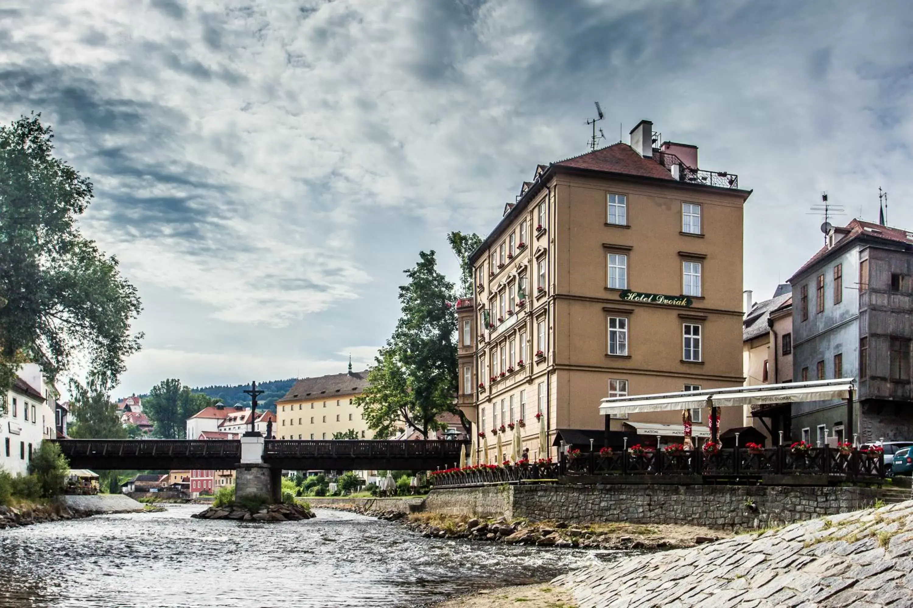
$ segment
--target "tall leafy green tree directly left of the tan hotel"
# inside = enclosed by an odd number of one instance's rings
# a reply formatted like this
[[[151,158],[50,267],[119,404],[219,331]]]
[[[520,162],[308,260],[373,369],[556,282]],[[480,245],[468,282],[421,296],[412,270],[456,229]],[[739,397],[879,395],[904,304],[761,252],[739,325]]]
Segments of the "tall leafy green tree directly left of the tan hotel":
[[[400,287],[402,315],[368,371],[370,386],[354,403],[377,437],[401,425],[427,437],[436,417],[455,411],[456,314],[454,284],[438,272],[435,252],[420,252]]]

